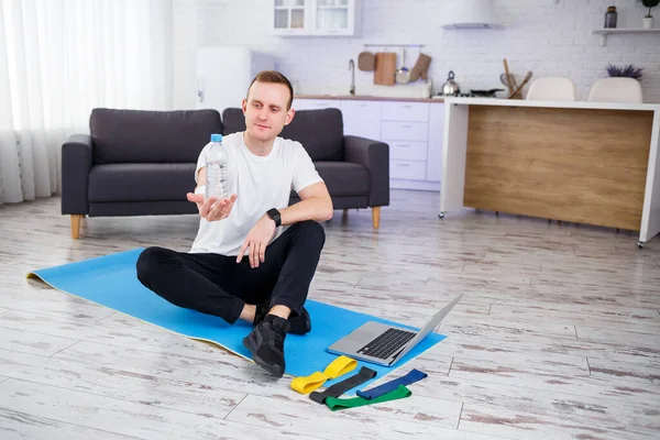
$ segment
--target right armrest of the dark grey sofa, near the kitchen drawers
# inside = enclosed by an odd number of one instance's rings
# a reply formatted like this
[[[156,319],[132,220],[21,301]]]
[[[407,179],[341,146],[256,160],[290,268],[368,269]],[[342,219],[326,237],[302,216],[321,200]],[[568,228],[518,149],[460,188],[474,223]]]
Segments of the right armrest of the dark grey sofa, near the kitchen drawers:
[[[389,145],[371,139],[345,135],[344,160],[353,164],[360,164],[369,170],[369,206],[388,206]]]

